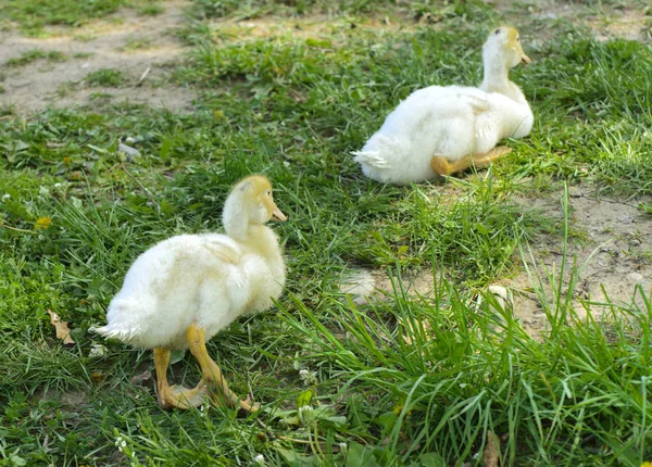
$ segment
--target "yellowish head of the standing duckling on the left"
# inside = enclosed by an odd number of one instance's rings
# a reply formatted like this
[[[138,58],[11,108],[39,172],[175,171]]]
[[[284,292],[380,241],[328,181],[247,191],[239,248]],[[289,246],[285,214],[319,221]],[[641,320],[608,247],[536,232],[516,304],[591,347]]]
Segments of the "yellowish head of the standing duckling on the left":
[[[272,184],[262,175],[251,175],[238,181],[224,204],[222,220],[231,237],[246,235],[249,225],[269,220],[286,220],[272,194]]]

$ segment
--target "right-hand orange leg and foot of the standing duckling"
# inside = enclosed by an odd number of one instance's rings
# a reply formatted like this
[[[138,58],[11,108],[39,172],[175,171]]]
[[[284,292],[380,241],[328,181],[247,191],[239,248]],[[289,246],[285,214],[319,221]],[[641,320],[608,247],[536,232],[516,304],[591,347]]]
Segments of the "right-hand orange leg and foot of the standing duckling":
[[[218,404],[226,402],[231,406],[239,406],[246,412],[256,412],[260,408],[260,404],[258,403],[252,404],[249,401],[240,401],[240,399],[228,389],[228,383],[222,376],[222,370],[217,364],[213,362],[206,351],[203,329],[196,325],[191,325],[186,331],[186,339],[188,340],[190,352],[199,362],[203,379],[209,384],[213,401]]]

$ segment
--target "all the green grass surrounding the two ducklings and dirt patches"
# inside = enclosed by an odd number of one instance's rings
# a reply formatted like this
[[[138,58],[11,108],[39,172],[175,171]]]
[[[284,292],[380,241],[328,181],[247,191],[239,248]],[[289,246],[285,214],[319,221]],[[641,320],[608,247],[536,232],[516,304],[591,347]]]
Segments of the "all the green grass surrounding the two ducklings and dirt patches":
[[[600,42],[551,21],[556,34],[534,48],[524,29],[534,63],[514,79],[536,113],[532,134],[477,176],[392,187],[365,179],[349,152],[413,90],[476,83],[485,28],[501,18],[484,2],[342,1],[330,11],[336,26],[296,38],[239,37],[205,20],[253,12],[293,22],[327,9],[195,2],[184,31],[191,51],[173,70],[199,96],[191,113],[128,103],[2,111],[0,465],[237,466],[259,455],[288,466],[479,465],[489,431],[501,439],[501,465],[652,459],[649,291],[637,290],[643,305],[611,303],[604,320],[580,318],[569,302],[576,282],[530,269],[551,323],[541,340],[511,310],[477,301],[491,303],[485,287],[522,267],[541,237],[562,247],[581,237],[513,194],[578,182],[652,194],[649,45]],[[424,9],[446,27],[418,23]],[[46,12],[33,14],[45,22]],[[386,14],[404,27],[389,33],[365,18]],[[86,83],[125,80],[102,70]],[[127,138],[141,156],[118,152]],[[131,380],[153,373],[150,353],[88,329],[103,323],[139,253],[220,229],[230,185],[256,172],[290,218],[274,226],[287,291],[209,351],[234,391],[253,388],[264,411],[162,412],[152,379]],[[566,204],[560,211],[567,219]],[[393,275],[389,300],[342,300],[340,274],[361,266]],[[434,296],[402,290],[400,276],[416,270],[432,270]],[[549,296],[544,279],[556,285]],[[57,341],[48,310],[70,321],[76,344]],[[106,354],[93,356],[100,344]],[[172,378],[193,384],[195,361],[178,358]]]

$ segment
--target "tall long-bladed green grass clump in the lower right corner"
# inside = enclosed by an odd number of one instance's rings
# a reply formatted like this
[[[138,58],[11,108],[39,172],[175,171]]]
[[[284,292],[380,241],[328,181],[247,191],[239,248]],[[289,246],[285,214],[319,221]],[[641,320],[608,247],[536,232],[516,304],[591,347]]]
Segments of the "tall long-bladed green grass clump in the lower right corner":
[[[509,310],[478,313],[449,281],[435,280],[431,302],[402,296],[398,282],[389,306],[333,301],[329,326],[298,301],[301,313],[288,315],[309,341],[302,358],[347,381],[333,389],[358,415],[342,440],[356,439],[379,465],[469,459],[488,431],[503,439],[507,465],[638,465],[649,457],[649,300],[644,310],[612,306],[607,328],[567,304],[549,310],[551,333],[539,343]]]

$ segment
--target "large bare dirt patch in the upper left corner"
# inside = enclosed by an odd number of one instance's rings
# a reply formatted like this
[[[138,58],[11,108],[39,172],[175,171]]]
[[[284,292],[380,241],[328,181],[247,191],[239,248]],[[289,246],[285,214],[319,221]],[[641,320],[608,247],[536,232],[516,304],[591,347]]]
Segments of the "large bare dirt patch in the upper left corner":
[[[123,10],[82,28],[49,28],[47,38],[23,37],[17,30],[0,33],[0,72],[4,75],[0,106],[13,105],[15,112],[28,114],[47,106],[97,105],[101,97],[100,102],[128,101],[189,110],[195,93],[167,83],[171,64],[185,52],[174,30],[184,25],[186,5],[179,0],[163,2],[164,12],[156,16]],[[33,50],[61,52],[66,60],[7,65],[8,60],[20,59]],[[89,73],[108,68],[120,71],[126,83],[110,88],[85,83]]]

